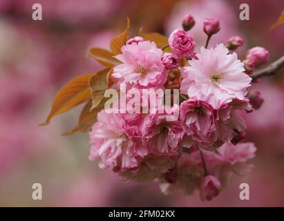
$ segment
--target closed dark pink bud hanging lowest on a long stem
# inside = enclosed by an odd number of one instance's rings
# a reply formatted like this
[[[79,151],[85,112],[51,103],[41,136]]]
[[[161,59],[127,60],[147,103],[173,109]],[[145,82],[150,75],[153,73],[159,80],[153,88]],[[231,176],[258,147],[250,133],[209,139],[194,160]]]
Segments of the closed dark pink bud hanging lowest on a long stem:
[[[221,189],[220,181],[213,175],[207,175],[200,186],[200,198],[201,200],[213,200],[219,195]]]

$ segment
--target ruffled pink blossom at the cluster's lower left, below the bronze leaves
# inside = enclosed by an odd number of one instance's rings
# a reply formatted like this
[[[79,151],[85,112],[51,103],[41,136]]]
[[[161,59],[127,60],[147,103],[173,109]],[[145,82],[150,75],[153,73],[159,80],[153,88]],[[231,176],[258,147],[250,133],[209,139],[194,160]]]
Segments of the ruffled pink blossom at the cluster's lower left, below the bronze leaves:
[[[91,154],[90,159],[101,157],[100,168],[114,171],[135,169],[142,157],[148,154],[143,140],[129,125],[131,120],[124,119],[120,114],[107,114],[101,111],[97,122],[89,133]]]

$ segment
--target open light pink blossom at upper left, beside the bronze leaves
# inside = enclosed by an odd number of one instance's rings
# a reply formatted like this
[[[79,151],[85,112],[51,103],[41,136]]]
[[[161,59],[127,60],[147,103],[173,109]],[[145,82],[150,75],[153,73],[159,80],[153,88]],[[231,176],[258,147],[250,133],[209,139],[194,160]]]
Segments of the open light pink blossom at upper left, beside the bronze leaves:
[[[126,44],[122,54],[115,56],[123,64],[113,68],[113,79],[117,84],[151,87],[160,86],[167,80],[162,64],[162,50],[154,42],[141,41],[138,44]]]

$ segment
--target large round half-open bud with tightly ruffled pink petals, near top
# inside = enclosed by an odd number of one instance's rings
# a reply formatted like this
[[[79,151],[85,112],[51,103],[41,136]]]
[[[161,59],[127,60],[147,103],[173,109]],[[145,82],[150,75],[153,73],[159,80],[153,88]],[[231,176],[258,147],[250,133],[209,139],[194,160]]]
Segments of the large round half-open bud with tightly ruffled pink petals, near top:
[[[176,55],[187,57],[193,54],[196,44],[189,32],[176,29],[169,37],[169,46]]]

